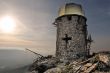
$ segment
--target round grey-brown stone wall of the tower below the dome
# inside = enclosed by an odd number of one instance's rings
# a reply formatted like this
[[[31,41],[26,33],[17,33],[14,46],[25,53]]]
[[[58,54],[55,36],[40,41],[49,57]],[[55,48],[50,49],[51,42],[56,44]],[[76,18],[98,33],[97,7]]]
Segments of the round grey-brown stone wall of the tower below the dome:
[[[86,56],[86,18],[80,15],[65,15],[55,21],[57,27],[56,56],[73,59]],[[63,38],[71,37],[66,43]],[[67,46],[66,46],[67,45]]]

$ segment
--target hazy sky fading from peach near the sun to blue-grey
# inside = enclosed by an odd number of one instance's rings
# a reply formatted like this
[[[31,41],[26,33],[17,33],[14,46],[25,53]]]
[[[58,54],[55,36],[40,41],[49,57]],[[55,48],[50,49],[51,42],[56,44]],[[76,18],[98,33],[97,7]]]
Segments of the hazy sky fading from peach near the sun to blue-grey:
[[[110,0],[0,0],[0,18],[16,20],[14,33],[0,32],[0,47],[30,48],[40,53],[55,52],[56,27],[60,6],[81,4],[94,40],[92,50],[110,50]]]

